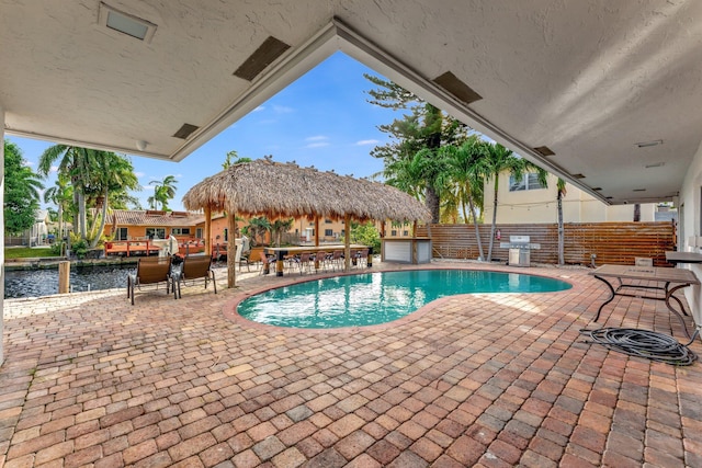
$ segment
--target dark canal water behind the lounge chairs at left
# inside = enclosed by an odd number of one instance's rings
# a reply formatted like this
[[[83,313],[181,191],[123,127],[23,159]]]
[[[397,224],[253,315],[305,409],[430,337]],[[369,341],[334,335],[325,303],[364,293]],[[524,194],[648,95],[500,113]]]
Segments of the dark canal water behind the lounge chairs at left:
[[[128,265],[70,265],[72,293],[124,288],[127,275],[136,272],[136,264]],[[58,269],[14,270],[4,272],[4,297],[42,297],[58,294]]]

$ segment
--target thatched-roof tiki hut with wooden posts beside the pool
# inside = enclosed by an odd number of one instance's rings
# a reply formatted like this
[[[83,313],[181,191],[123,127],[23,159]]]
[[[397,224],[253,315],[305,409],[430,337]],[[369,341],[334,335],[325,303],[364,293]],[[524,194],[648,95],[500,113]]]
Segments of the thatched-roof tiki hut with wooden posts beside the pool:
[[[194,185],[183,204],[205,213],[205,252],[211,252],[211,216],[226,212],[234,235],[236,215],[325,217],[344,219],[349,248],[349,220],[429,221],[429,210],[408,194],[378,182],[301,168],[295,163],[258,159],[240,162]],[[228,286],[236,283],[235,242],[228,242]],[[347,259],[349,252],[347,252]]]

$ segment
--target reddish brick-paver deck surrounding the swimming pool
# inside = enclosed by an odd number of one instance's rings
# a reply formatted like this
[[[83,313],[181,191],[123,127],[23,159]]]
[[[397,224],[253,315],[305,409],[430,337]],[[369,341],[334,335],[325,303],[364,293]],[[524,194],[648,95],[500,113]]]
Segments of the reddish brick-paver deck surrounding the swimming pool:
[[[411,266],[372,271],[398,267]],[[616,297],[592,324],[607,290],[590,270],[428,267],[574,287],[453,296],[340,332],[234,313],[297,274],[246,274],[227,289],[219,270],[217,295],[137,293],[135,306],[125,289],[8,299],[0,467],[702,466],[701,364],[630,357],[579,334],[632,327],[687,341],[663,303]],[[690,349],[702,354],[702,341]]]

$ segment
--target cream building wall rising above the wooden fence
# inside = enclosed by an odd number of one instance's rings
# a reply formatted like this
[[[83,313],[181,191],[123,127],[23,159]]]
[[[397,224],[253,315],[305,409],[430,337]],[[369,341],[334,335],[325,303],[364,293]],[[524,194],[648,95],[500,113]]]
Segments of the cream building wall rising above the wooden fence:
[[[546,189],[509,191],[509,174],[502,173],[498,186],[498,224],[557,222],[558,178],[548,175]],[[485,184],[485,222],[492,220],[494,182]],[[571,184],[563,198],[564,222],[633,221],[634,205],[608,206]],[[656,205],[641,206],[641,220],[653,221]]]

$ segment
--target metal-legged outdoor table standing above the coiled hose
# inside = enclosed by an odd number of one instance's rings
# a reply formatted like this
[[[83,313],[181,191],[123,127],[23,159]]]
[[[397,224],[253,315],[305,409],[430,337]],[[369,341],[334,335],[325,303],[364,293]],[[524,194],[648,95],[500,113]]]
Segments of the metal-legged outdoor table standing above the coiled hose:
[[[690,338],[682,318],[682,315],[687,316],[688,313],[680,299],[673,296],[679,289],[700,284],[698,277],[690,270],[659,266],[602,265],[590,272],[590,275],[604,283],[610,290],[610,297],[597,310],[596,322],[600,318],[602,308],[610,304],[615,296],[663,300],[668,310],[680,321],[684,334]],[[645,293],[647,289],[658,290],[663,294],[647,295]],[[672,307],[671,300],[677,303],[679,310]]]

